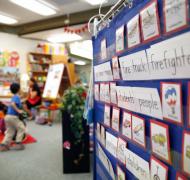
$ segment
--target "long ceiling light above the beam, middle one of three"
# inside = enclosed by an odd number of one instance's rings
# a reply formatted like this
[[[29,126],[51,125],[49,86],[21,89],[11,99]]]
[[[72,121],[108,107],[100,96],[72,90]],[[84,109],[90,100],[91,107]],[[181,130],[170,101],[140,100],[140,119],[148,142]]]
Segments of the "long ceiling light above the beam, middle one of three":
[[[10,0],[12,3],[28,9],[42,16],[56,14],[56,11],[48,3],[39,0]]]

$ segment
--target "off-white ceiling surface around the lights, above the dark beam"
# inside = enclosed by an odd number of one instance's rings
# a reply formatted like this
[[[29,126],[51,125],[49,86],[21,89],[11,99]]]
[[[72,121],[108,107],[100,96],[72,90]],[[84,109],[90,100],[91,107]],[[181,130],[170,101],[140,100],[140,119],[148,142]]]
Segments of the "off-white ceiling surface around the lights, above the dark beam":
[[[92,6],[88,4],[85,0],[46,0],[46,1],[52,4],[56,8],[57,11],[56,15],[41,16],[31,11],[28,11],[22,7],[19,7],[11,3],[9,0],[0,0],[0,12],[4,15],[16,18],[18,20],[18,23],[15,24],[14,26],[18,26],[21,24],[31,23],[66,14],[68,15],[76,12],[82,12],[85,10],[98,8],[98,6]],[[116,2],[117,0],[109,0],[107,3],[104,4],[104,6],[112,5]]]

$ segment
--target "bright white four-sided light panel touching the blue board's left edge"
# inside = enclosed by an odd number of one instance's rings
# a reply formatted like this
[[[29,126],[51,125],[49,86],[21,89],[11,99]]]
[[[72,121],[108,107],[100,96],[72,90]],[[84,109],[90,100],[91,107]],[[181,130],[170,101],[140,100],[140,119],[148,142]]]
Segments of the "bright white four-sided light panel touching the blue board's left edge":
[[[92,41],[74,42],[69,45],[70,53],[76,56],[93,59]]]

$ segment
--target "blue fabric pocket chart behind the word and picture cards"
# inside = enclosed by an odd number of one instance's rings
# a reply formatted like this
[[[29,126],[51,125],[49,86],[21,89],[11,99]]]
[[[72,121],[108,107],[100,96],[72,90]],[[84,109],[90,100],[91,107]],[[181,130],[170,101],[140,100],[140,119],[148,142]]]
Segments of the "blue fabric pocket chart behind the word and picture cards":
[[[156,43],[159,43],[161,41],[165,41],[167,39],[179,36],[181,34],[184,34],[186,32],[190,31],[189,25],[185,27],[184,29],[179,29],[176,32],[172,32],[169,34],[164,33],[164,15],[163,15],[163,2],[162,0],[158,0],[158,15],[159,15],[159,23],[161,28],[161,35],[160,37],[156,38],[155,40],[141,43],[135,48],[128,49],[125,45],[125,50],[116,53],[115,50],[115,42],[116,42],[116,29],[118,29],[120,26],[127,24],[129,20],[131,20],[135,15],[137,15],[150,1],[148,0],[134,0],[133,1],[133,7],[128,8],[125,7],[109,24],[109,27],[104,28],[102,31],[100,31],[97,35],[97,37],[93,37],[93,52],[94,52],[94,66],[110,62],[113,56],[123,57],[129,54],[133,54],[135,52],[148,49],[151,45],[154,45]],[[189,6],[189,1],[188,6]],[[189,16],[188,16],[189,18]],[[189,20],[188,20],[189,23]],[[101,41],[103,39],[106,39],[106,46],[107,46],[107,58],[102,59],[101,58]],[[126,32],[125,32],[125,42],[126,42]],[[189,44],[190,45],[190,44]],[[162,48],[162,47],[160,47]],[[143,149],[139,145],[135,144],[133,141],[128,140],[127,138],[122,136],[121,132],[121,122],[122,122],[122,116],[124,109],[120,108],[120,130],[114,131],[110,127],[104,126],[104,107],[105,103],[100,101],[94,101],[94,132],[96,132],[97,123],[100,123],[102,126],[105,127],[105,130],[111,134],[113,134],[116,137],[122,137],[127,142],[127,148],[134,152],[136,155],[140,156],[144,160],[150,162],[150,158],[152,155],[151,151],[151,142],[150,142],[150,119],[156,119],[158,122],[162,122],[169,126],[169,139],[170,139],[170,148],[172,151],[172,164],[169,164],[165,161],[162,161],[159,159],[162,163],[164,163],[168,167],[168,179],[174,180],[176,179],[177,172],[184,174],[182,171],[182,143],[183,143],[183,132],[184,130],[190,131],[188,128],[188,102],[187,102],[187,96],[188,96],[188,81],[189,79],[164,79],[164,80],[144,80],[144,81],[127,81],[127,80],[117,80],[116,82],[117,86],[130,86],[130,87],[147,87],[147,88],[156,88],[160,92],[160,84],[161,82],[176,82],[181,83],[182,85],[182,113],[183,113],[183,122],[184,124],[176,125],[172,122],[163,121],[161,119],[152,118],[147,115],[142,115],[136,112],[132,112],[134,115],[138,115],[145,119],[145,136],[146,136],[146,148]],[[94,82],[98,83],[98,82]],[[112,105],[111,105],[112,106]],[[101,142],[98,140],[96,133],[94,133],[94,179],[112,179],[110,176],[108,170],[106,167],[104,167],[103,163],[100,161],[98,155],[97,155],[97,146],[100,146],[104,153],[106,154],[107,158],[110,160],[115,176],[117,174],[116,167],[117,164],[121,167],[121,169],[125,172],[126,179],[137,179],[127,168],[125,165],[123,165],[121,162],[119,162],[106,148],[101,144]],[[186,177],[188,177],[186,175]],[[116,177],[117,178],[117,177]]]

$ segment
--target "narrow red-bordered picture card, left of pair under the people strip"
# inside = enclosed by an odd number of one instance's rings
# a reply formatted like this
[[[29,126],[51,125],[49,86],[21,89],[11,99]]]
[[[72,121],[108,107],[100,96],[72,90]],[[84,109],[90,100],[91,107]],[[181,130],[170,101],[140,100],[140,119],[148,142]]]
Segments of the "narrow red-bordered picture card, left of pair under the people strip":
[[[122,134],[131,139],[132,137],[132,115],[126,111],[123,111],[123,122],[122,122]]]

